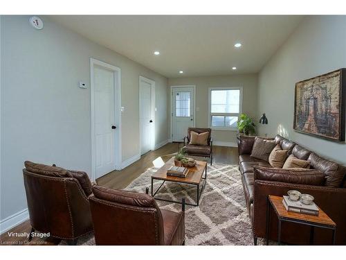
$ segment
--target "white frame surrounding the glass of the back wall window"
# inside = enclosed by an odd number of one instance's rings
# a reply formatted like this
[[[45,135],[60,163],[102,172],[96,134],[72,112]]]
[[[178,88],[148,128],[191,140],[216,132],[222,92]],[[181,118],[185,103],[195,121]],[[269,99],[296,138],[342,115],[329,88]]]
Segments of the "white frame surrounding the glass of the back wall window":
[[[239,89],[239,113],[212,113],[212,91],[213,90],[233,90]],[[242,114],[243,110],[243,87],[209,87],[208,88],[208,125],[212,130],[226,130],[226,131],[237,131],[237,127],[227,127],[227,126],[212,126],[212,116],[239,116]]]

